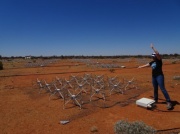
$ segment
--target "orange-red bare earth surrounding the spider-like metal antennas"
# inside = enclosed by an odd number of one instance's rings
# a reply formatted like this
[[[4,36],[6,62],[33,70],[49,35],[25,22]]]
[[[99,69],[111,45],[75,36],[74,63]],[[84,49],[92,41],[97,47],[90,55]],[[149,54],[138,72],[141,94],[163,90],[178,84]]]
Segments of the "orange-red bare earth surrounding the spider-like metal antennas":
[[[33,63],[46,60],[3,60],[4,70],[0,71],[0,134],[113,134],[115,123],[120,120],[143,121],[158,130],[158,133],[180,133],[180,62],[175,59],[163,60],[166,89],[174,108],[166,109],[162,92],[159,90],[159,103],[153,110],[136,105],[136,100],[146,97],[153,99],[151,68],[137,69],[137,66],[150,59],[91,59],[94,64],[116,64],[126,68],[101,68],[87,64],[88,60],[53,60],[46,66],[30,67]],[[34,65],[34,64],[33,64]],[[131,80],[138,89],[128,88],[124,93],[105,94],[105,101],[90,93],[83,93],[82,109],[71,101],[63,109],[63,99],[53,96],[37,86],[36,79],[51,83],[56,76],[69,79],[71,75],[85,74],[118,76],[118,79]],[[105,83],[107,84],[107,83]],[[109,91],[107,89],[107,91]],[[69,123],[61,124],[60,121]]]

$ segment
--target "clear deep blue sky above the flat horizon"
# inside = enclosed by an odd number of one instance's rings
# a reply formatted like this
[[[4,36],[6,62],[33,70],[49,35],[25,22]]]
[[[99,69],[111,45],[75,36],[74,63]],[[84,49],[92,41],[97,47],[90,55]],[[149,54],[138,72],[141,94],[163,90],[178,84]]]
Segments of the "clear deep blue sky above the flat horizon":
[[[180,0],[1,0],[0,55],[180,54]]]

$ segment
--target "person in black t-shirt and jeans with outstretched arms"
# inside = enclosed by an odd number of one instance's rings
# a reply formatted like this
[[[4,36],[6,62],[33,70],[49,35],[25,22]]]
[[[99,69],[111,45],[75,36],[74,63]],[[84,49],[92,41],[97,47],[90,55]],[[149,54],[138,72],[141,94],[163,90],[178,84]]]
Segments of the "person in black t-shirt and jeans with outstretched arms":
[[[158,102],[158,86],[159,86],[166,99],[167,109],[170,110],[172,109],[172,103],[164,84],[164,74],[162,71],[162,58],[159,52],[155,49],[153,44],[151,44],[150,47],[154,51],[151,55],[153,60],[145,65],[139,66],[138,68],[144,68],[149,66],[152,68],[152,84],[154,87],[154,100],[156,103]]]

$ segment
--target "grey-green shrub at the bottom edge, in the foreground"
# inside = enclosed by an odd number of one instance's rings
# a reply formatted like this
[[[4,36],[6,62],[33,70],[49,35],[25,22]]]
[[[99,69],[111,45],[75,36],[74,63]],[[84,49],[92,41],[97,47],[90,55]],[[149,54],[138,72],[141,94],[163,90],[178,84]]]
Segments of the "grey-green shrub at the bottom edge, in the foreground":
[[[156,130],[147,126],[141,121],[129,123],[121,120],[115,124],[114,131],[116,134],[155,134]]]

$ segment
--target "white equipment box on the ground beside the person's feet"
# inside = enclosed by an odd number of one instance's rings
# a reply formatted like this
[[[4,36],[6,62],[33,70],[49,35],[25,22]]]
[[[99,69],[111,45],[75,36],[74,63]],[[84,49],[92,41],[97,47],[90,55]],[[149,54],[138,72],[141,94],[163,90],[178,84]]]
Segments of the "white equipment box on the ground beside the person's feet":
[[[155,101],[152,99],[148,99],[148,98],[141,98],[136,101],[136,105],[145,107],[147,109],[151,109],[151,108],[155,107]]]

